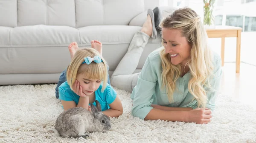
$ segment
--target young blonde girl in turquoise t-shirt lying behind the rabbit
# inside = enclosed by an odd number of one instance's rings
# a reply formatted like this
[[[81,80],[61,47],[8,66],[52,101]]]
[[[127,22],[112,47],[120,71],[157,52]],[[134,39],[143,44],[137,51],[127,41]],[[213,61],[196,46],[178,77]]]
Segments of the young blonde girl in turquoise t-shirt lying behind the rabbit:
[[[90,110],[89,104],[96,105],[95,100],[98,100],[105,115],[121,115],[122,103],[116,91],[107,83],[105,59],[94,48],[78,49],[75,42],[70,44],[69,50],[72,60],[67,67],[67,81],[58,87],[58,98],[64,110],[73,107]]]

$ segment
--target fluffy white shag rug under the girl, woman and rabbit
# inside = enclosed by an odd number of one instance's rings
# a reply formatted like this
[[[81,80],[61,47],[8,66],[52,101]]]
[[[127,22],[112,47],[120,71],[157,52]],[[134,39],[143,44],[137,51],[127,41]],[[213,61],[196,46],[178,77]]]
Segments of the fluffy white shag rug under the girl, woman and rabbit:
[[[256,110],[228,96],[218,96],[209,124],[143,121],[131,116],[130,93],[116,88],[124,112],[109,132],[58,137],[52,129],[63,109],[55,86],[0,86],[0,143],[256,143]]]

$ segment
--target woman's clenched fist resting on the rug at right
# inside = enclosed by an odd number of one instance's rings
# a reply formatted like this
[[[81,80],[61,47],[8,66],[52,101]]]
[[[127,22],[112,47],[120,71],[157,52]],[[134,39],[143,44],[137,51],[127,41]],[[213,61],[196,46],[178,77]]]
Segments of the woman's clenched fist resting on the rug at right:
[[[198,124],[209,123],[212,118],[212,111],[208,108],[197,108],[187,111],[186,121],[195,122]]]

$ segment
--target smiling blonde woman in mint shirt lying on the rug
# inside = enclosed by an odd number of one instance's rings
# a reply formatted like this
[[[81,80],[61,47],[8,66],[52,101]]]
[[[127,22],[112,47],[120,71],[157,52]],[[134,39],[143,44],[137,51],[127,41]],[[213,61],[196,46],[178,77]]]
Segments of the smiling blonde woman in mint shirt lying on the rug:
[[[134,38],[111,76],[112,86],[132,92],[135,117],[209,123],[222,75],[220,56],[210,50],[201,19],[191,8],[177,9],[160,27],[163,47],[149,54],[141,73],[132,74],[128,69],[135,70],[138,61],[129,61],[139,60],[150,34]],[[137,41],[143,42],[137,46]]]

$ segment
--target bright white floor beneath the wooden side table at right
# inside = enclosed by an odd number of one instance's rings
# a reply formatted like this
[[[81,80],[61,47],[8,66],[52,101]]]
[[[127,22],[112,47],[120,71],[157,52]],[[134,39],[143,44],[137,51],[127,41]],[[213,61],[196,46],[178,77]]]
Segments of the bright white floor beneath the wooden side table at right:
[[[236,63],[224,63],[223,77],[220,93],[233,97],[244,104],[256,109],[256,66],[243,63],[240,64],[240,73],[236,73]]]

